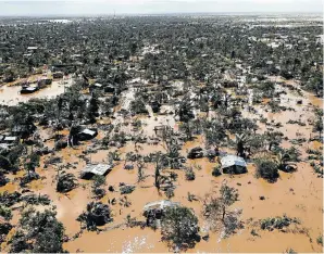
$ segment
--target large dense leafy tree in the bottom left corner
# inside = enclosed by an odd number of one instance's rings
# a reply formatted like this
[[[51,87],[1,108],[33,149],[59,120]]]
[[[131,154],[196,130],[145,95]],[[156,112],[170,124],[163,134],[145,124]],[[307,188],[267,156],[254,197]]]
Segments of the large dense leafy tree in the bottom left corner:
[[[12,253],[61,253],[64,227],[55,218],[54,211],[36,212],[29,208],[22,214],[17,230],[12,239]]]

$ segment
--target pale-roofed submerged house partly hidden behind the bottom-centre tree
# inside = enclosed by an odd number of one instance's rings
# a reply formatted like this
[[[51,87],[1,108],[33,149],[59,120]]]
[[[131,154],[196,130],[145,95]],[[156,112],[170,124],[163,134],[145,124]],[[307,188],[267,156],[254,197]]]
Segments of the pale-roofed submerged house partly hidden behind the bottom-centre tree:
[[[147,218],[160,219],[165,208],[179,205],[178,202],[172,202],[170,200],[150,202],[144,206],[144,216]]]

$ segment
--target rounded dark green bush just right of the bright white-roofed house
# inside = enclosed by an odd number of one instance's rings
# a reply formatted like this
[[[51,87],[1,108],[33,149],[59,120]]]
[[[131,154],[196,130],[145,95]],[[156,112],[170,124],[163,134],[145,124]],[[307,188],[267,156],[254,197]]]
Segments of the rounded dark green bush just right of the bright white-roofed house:
[[[274,161],[270,158],[258,158],[256,161],[256,165],[257,165],[257,172],[256,172],[257,178],[261,177],[267,180],[269,182],[275,182],[279,177],[278,165]]]

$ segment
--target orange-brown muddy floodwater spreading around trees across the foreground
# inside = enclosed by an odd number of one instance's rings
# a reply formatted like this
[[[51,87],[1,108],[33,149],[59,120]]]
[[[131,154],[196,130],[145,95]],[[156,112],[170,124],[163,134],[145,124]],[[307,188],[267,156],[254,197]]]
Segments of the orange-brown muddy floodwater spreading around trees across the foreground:
[[[130,90],[132,91],[132,90]],[[133,98],[130,94],[124,94],[124,99]],[[263,115],[271,122],[272,119],[277,123],[281,122],[283,127],[279,130],[284,132],[289,139],[296,139],[303,136],[307,139],[312,134],[312,126],[298,126],[287,124],[289,119],[301,119],[307,123],[307,119],[313,116],[312,107],[308,105],[322,106],[323,101],[319,98],[314,98],[309,93],[304,93],[304,103],[297,105],[296,100],[298,96],[288,92],[287,96],[282,97],[282,105],[291,106],[296,112],[281,112],[270,113],[265,111],[269,101],[264,101],[262,104],[257,105],[260,115]],[[123,107],[127,107],[129,102],[124,102]],[[171,111],[169,105],[162,107],[163,111]],[[247,110],[244,112],[244,116],[252,117]],[[151,113],[152,114],[152,113]],[[117,115],[116,115],[117,116]],[[202,116],[203,117],[203,116]],[[256,115],[253,116],[256,117]],[[133,119],[135,119],[134,117]],[[174,115],[151,115],[151,117],[139,116],[137,117],[144,122],[144,132],[147,136],[154,136],[153,127],[157,125],[170,125],[173,128],[178,128],[177,123],[174,120]],[[102,122],[108,119],[103,118]],[[123,117],[117,116],[114,119],[115,123],[124,123]],[[114,124],[115,124],[114,123]],[[264,124],[259,124],[261,131],[266,129]],[[123,127],[126,131],[130,131],[130,127]],[[42,130],[42,136],[47,137],[49,134]],[[100,139],[104,137],[104,132],[100,132]],[[232,137],[233,138],[233,137]],[[48,141],[47,145],[52,145],[52,141]],[[61,152],[58,152],[58,156],[62,156],[63,164],[71,163],[74,168],[66,169],[68,173],[73,173],[76,177],[79,176],[80,170],[86,165],[85,161],[79,157],[83,151],[89,148],[94,148],[96,143],[92,141],[84,142],[82,145],[72,149],[66,148]],[[138,153],[147,155],[154,151],[165,151],[161,142],[158,145],[139,144]],[[283,143],[284,147],[290,147],[289,141]],[[183,145],[180,153],[187,154],[187,151],[195,147],[204,147],[203,138],[197,136],[194,141],[186,142]],[[313,172],[313,168],[307,162],[306,150],[308,148],[320,150],[322,143],[310,142],[308,144],[297,145],[301,151],[302,161],[297,163],[298,170],[292,174],[279,172],[279,178],[275,183],[269,183],[263,179],[257,179],[254,177],[256,167],[253,164],[248,165],[248,173],[239,176],[229,177],[228,175],[221,175],[220,177],[212,176],[212,169],[216,166],[216,163],[211,163],[207,158],[188,160],[187,166],[191,166],[196,173],[196,179],[194,181],[187,181],[185,179],[185,173],[183,170],[175,170],[178,174],[178,179],[175,182],[176,189],[172,201],[180,202],[183,205],[191,207],[196,215],[199,217],[200,228],[202,233],[209,232],[209,241],[201,240],[196,244],[194,249],[188,252],[207,253],[207,252],[220,252],[220,253],[234,253],[234,252],[277,252],[283,253],[287,249],[294,249],[297,252],[322,252],[321,245],[316,243],[316,238],[323,233],[323,179],[317,178]],[[121,149],[109,148],[108,150],[98,150],[96,153],[86,155],[91,158],[91,162],[107,162],[108,154],[111,151],[117,150],[125,157],[127,152],[134,152],[135,145],[132,142]],[[221,148],[222,151],[234,153],[235,151],[228,148]],[[36,193],[48,194],[57,206],[58,218],[64,224],[66,234],[73,237],[79,231],[79,223],[76,221],[77,216],[86,209],[88,202],[92,200],[91,194],[91,181],[80,180],[79,187],[66,195],[59,194],[55,191],[55,176],[57,166],[49,166],[43,168],[43,162],[48,158],[43,156],[41,165],[37,168],[37,173],[43,177],[41,180],[37,180],[29,185],[30,189]],[[127,215],[135,217],[138,220],[144,220],[142,207],[146,203],[157,200],[166,199],[163,192],[158,192],[153,185],[154,166],[147,164],[145,167],[146,179],[144,182],[137,182],[137,167],[134,164],[134,169],[124,169],[124,161],[116,163],[113,169],[107,176],[107,189],[108,186],[114,186],[119,189],[120,182],[128,185],[135,185],[136,189],[130,194],[127,194],[127,200],[132,203],[129,207],[124,207],[119,202],[115,205],[111,205],[114,221],[105,225],[105,231],[102,232],[89,232],[84,231],[75,240],[71,240],[64,243],[64,247],[68,252],[84,251],[84,252],[170,252],[166,243],[161,242],[160,230],[153,231],[150,228],[127,228],[125,226]],[[169,169],[164,169],[162,174],[167,174]],[[20,173],[21,174],[21,173]],[[219,191],[223,181],[227,181],[230,187],[235,187],[239,192],[239,201],[236,202],[233,207],[241,208],[241,220],[245,221],[244,228],[238,230],[234,236],[222,239],[219,232],[212,232],[208,230],[208,225],[201,215],[202,203],[201,200],[207,193],[211,191]],[[0,192],[4,190],[13,192],[18,189],[17,182],[9,183],[5,187],[0,188]],[[189,202],[187,199],[188,193],[195,194],[198,201]],[[264,200],[260,200],[260,196],[264,196]],[[125,199],[119,191],[109,192],[101,202],[108,203],[108,200]],[[263,231],[257,223],[260,219],[273,216],[283,216],[286,214],[289,217],[297,217],[301,221],[302,232],[281,232]],[[17,221],[18,214],[14,213],[14,220]],[[250,223],[249,223],[250,221]],[[251,230],[254,229],[259,236],[253,237]]]

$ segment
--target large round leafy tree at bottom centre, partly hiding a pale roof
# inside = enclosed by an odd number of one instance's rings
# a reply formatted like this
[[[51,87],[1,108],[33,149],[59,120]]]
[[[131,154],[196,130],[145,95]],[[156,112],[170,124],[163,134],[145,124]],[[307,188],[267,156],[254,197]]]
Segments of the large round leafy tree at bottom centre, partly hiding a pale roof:
[[[161,218],[163,240],[176,247],[192,246],[198,236],[198,218],[187,207],[169,207]]]

